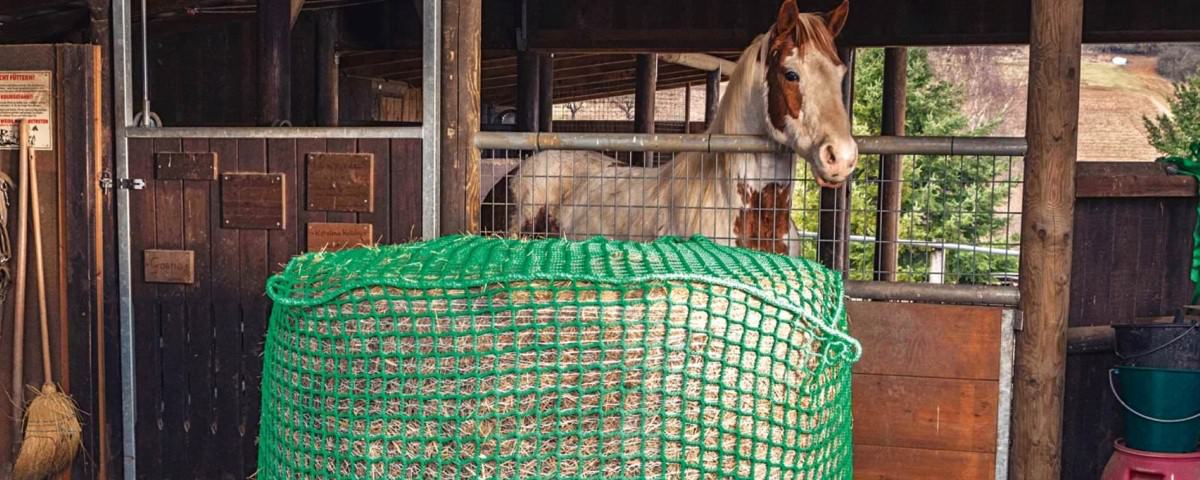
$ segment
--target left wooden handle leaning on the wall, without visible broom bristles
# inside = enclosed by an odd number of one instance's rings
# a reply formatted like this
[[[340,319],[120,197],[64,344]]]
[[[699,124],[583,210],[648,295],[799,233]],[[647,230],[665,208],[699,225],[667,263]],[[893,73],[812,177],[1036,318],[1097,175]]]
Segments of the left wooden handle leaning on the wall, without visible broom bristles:
[[[29,124],[20,121],[20,157],[17,158],[17,281],[13,293],[16,310],[13,311],[12,329],[12,403],[14,425],[13,432],[20,432],[20,424],[25,415],[25,277],[28,276],[28,252],[29,252]],[[20,436],[13,438],[19,443]]]

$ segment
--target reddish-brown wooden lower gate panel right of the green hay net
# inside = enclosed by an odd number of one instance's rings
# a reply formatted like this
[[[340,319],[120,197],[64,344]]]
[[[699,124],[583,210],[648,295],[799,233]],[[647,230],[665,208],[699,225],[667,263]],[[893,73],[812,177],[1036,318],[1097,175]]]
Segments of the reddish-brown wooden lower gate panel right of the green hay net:
[[[851,302],[854,476],[1007,479],[1012,310]]]

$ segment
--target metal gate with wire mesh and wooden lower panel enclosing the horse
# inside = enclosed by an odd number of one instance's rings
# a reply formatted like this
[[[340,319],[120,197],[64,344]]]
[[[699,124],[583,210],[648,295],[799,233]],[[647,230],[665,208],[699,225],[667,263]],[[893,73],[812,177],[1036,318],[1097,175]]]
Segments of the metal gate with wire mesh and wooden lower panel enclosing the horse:
[[[844,216],[848,238],[820,232],[824,212],[803,162],[793,172],[737,179],[787,185],[784,197],[744,209],[760,222],[773,222],[752,232],[778,233],[794,222],[798,234],[788,240],[796,244],[788,250],[804,258],[816,258],[821,242],[848,244],[847,311],[851,334],[864,347],[853,380],[856,474],[934,478],[953,472],[960,479],[1004,479],[1019,323],[1012,272],[1020,244],[1014,197],[1019,198],[1022,184],[1014,164],[1025,154],[1025,140],[864,137],[858,144],[863,166],[850,188],[877,198],[883,182],[892,181],[881,180],[880,155],[904,155],[917,172],[902,180],[912,198],[900,211],[889,212],[905,227],[894,229],[898,238],[875,229],[880,211],[874,203],[851,205]],[[697,200],[702,196],[690,191],[733,190],[734,184],[732,174],[721,169],[626,168],[632,157],[649,152],[644,155],[650,163],[670,166],[710,162],[715,154],[776,151],[766,138],[730,134],[485,132],[476,137],[476,146],[482,150],[484,170],[490,172],[481,188],[485,233],[630,240],[661,234],[630,223],[662,222],[682,209],[712,210],[712,203]],[[524,161],[542,151],[551,154],[534,163]],[[962,174],[920,174],[923,166],[947,163]],[[722,172],[726,176],[720,176]],[[684,193],[665,197],[658,191]],[[967,202],[952,208],[938,203],[950,194]],[[712,214],[703,222],[736,222],[742,212]],[[770,250],[768,242],[776,240],[746,239],[736,228],[700,227],[728,245]],[[899,250],[899,262],[888,272],[898,281],[875,281],[884,271],[872,256],[884,246]]]

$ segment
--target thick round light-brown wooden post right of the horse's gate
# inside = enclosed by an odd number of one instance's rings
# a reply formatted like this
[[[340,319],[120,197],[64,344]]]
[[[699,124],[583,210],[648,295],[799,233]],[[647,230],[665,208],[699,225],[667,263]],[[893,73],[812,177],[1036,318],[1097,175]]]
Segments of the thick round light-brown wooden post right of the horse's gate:
[[[1084,0],[1033,0],[1012,478],[1057,479],[1070,305]]]

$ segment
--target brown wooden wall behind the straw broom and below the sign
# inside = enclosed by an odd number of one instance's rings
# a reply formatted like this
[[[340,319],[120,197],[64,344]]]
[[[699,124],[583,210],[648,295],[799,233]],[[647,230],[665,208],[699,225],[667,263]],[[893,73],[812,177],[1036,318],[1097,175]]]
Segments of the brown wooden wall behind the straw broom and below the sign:
[[[46,294],[50,338],[50,362],[54,380],[71,395],[82,412],[83,450],[72,466],[74,478],[96,478],[102,432],[112,433],[120,418],[104,419],[96,395],[106,380],[97,366],[104,348],[100,335],[115,328],[115,317],[97,314],[96,235],[94,215],[97,199],[96,127],[100,126],[100,58],[91,46],[0,46],[0,73],[8,71],[48,71],[52,73],[53,150],[35,156],[44,242]],[[43,126],[44,132],[44,126]],[[17,150],[0,150],[0,170],[18,181]],[[103,163],[101,163],[103,162]],[[11,194],[8,235],[13,254],[17,248],[17,196]],[[31,218],[30,218],[31,221]],[[42,386],[41,331],[38,328],[32,244],[29,247],[29,272],[25,307],[24,384]],[[16,274],[16,257],[6,265]],[[13,301],[19,294],[10,286],[0,302],[0,478],[12,468],[14,431],[12,410]],[[108,322],[97,325],[97,322]],[[108,372],[116,380],[116,372]],[[32,398],[25,390],[25,401]],[[102,424],[107,420],[107,425]],[[113,445],[109,437],[109,445]],[[112,458],[113,449],[109,449]],[[118,452],[119,454],[119,452]]]

